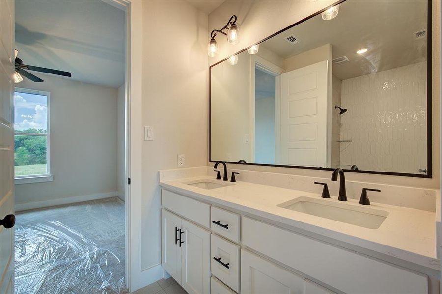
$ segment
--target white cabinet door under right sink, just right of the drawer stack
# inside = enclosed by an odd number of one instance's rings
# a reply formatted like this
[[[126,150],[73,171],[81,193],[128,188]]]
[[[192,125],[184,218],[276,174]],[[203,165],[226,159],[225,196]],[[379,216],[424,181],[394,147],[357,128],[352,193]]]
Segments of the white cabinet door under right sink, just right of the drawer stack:
[[[303,294],[304,277],[241,250],[242,294]]]

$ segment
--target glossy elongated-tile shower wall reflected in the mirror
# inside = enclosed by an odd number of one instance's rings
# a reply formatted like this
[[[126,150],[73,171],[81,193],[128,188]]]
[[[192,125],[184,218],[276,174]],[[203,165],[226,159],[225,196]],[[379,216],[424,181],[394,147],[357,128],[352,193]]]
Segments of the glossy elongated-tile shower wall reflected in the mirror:
[[[342,81],[340,164],[418,173],[427,168],[426,62]]]

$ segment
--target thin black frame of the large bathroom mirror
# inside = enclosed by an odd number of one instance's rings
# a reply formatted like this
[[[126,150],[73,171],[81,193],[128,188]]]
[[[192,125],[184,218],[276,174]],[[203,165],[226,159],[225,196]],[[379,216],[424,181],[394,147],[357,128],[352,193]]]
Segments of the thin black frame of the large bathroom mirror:
[[[255,43],[260,44],[274,36],[276,36],[279,33],[282,33],[283,31],[292,28],[296,25],[299,25],[301,23],[304,23],[305,21],[323,13],[330,7],[333,7],[335,5],[338,5],[340,3],[345,2],[346,0],[339,0],[330,6],[307,16],[306,18],[294,23],[293,25],[289,25],[276,33],[268,36],[267,38]],[[385,174],[385,175],[395,175],[395,176],[408,176],[408,177],[418,177],[418,178],[433,178],[433,156],[432,156],[432,148],[433,148],[433,140],[432,140],[432,0],[427,0],[427,174],[415,174],[415,173],[404,173],[404,172],[378,172],[378,171],[365,171],[365,170],[350,170],[350,169],[344,169],[345,172],[357,172],[357,173],[371,173],[371,174]],[[253,45],[255,45],[253,44]],[[239,53],[242,53],[249,49],[250,47],[247,47],[245,49],[242,49],[241,51],[236,52],[232,55],[237,55]],[[230,56],[229,56],[230,57]],[[211,158],[211,71],[212,67],[216,66],[217,64],[227,60],[229,57],[222,59],[221,61],[218,61],[217,63],[212,64],[209,66],[209,162],[217,162],[217,160],[212,160]],[[293,166],[293,165],[277,165],[277,164],[263,164],[263,163],[238,163],[238,162],[232,162],[232,161],[226,161],[226,163],[230,164],[245,164],[245,165],[255,165],[255,166],[271,166],[271,167],[280,167],[280,168],[295,168],[295,169],[308,169],[308,170],[321,170],[321,171],[333,171],[333,168],[323,168],[323,167],[305,167],[305,166]]]

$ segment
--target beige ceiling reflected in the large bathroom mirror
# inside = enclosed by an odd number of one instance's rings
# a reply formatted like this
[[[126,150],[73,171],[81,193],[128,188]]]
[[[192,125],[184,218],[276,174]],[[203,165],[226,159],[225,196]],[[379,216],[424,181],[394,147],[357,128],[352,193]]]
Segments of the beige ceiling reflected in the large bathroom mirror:
[[[330,43],[333,58],[350,59],[333,65],[333,74],[347,79],[425,61],[426,38],[416,40],[414,32],[426,28],[426,11],[422,0],[348,0],[336,18],[324,21],[318,15],[261,44],[285,59]],[[290,34],[299,43],[285,41]],[[361,48],[369,51],[356,54]]]

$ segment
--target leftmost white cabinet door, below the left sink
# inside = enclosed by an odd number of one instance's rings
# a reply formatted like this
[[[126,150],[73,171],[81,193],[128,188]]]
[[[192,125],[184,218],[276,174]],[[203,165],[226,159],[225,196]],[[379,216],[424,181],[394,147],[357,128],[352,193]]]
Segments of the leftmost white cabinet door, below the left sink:
[[[161,210],[161,264],[179,284],[181,284],[181,248],[184,244],[180,238],[181,218]],[[181,235],[181,239],[183,236]]]

